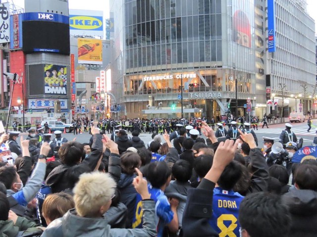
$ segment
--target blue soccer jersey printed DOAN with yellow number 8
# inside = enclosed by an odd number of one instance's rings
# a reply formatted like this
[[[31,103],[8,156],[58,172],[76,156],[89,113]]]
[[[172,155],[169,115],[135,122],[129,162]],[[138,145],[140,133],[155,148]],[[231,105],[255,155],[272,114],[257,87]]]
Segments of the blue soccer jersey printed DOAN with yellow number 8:
[[[239,206],[244,196],[233,190],[213,190],[211,227],[219,237],[239,237]]]

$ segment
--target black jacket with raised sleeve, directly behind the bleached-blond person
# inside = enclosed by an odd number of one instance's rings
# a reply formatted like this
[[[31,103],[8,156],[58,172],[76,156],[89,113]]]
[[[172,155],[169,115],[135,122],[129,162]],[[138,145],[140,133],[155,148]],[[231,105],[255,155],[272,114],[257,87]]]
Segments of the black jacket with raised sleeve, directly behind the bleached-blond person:
[[[92,151],[91,153],[89,153],[88,157],[85,158],[83,162],[79,165],[89,166],[90,169],[93,171],[103,151],[103,142],[101,134],[94,135],[94,142],[91,147],[91,150]],[[52,193],[60,192],[68,188],[73,188],[70,187],[65,177],[65,173],[70,167],[71,166],[68,165],[59,165],[56,168],[54,168],[53,171],[50,173],[45,183],[47,186],[51,187]]]

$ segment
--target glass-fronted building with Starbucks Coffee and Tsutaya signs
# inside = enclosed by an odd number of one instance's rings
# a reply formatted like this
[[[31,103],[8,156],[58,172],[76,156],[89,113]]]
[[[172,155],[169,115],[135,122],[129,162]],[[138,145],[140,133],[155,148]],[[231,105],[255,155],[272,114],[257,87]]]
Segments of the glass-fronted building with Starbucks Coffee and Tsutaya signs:
[[[236,91],[238,115],[248,98],[265,106],[264,1],[114,0],[110,12],[121,116],[180,117],[181,102],[187,118],[235,114]]]

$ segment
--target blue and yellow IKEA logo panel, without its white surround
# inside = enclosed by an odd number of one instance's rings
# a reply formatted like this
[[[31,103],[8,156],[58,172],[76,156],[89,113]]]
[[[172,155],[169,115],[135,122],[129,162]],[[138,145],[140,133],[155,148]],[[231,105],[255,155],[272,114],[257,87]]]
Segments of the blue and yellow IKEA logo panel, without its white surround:
[[[102,16],[69,16],[69,29],[71,30],[103,30],[103,17]]]

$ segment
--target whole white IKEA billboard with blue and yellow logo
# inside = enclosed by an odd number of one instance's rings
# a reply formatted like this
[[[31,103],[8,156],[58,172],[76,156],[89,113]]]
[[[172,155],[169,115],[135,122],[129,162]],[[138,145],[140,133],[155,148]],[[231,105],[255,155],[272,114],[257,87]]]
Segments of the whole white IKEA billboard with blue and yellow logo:
[[[69,10],[70,35],[104,37],[102,11]]]

